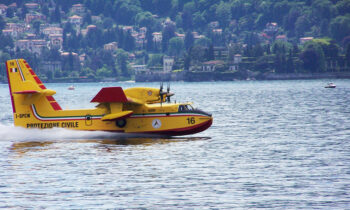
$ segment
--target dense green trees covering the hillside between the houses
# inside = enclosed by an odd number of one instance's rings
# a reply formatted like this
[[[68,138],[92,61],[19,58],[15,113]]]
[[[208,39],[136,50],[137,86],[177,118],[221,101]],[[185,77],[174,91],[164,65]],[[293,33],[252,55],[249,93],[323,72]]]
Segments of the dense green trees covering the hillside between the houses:
[[[0,16],[0,33],[7,23],[21,23],[30,11],[27,1],[1,0],[10,5]],[[203,62],[224,61],[218,71],[229,71],[233,56],[240,54],[241,69],[294,73],[349,71],[349,0],[33,0],[44,20],[32,21],[31,32],[44,38],[40,27],[55,24],[63,29],[61,49],[44,48],[41,56],[16,48],[16,39],[0,34],[0,62],[23,57],[34,68],[45,61],[60,61],[62,68],[42,71],[47,78],[119,77],[133,75],[132,64],[162,66],[164,55],[174,56],[173,69],[196,69]],[[79,27],[71,24],[71,8],[85,11]],[[96,18],[99,17],[99,18]],[[95,27],[85,35],[81,29]],[[146,28],[143,43],[134,33]],[[91,28],[91,27],[90,27]],[[160,43],[154,33],[162,35]],[[182,36],[181,36],[182,35]],[[25,39],[26,34],[17,37]],[[282,37],[282,38],[281,38]],[[301,43],[300,38],[313,37]],[[117,42],[118,49],[104,50]],[[221,50],[217,50],[221,49]],[[223,50],[222,50],[223,49]],[[68,56],[63,56],[67,52]],[[74,54],[84,55],[83,63]],[[190,68],[192,67],[192,68]],[[156,69],[156,68],[153,68]],[[199,69],[199,68],[197,68]],[[1,74],[4,77],[3,73]]]

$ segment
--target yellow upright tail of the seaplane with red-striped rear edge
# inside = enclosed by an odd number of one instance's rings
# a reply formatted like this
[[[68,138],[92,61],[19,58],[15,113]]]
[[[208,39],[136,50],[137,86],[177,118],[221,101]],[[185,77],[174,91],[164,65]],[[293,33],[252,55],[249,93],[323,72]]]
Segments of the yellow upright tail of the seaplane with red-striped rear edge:
[[[6,70],[15,125],[18,116],[28,116],[32,112],[33,104],[42,109],[62,110],[52,97],[56,92],[45,87],[24,59],[8,60]]]

